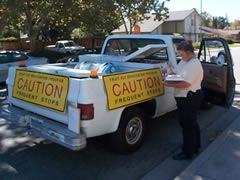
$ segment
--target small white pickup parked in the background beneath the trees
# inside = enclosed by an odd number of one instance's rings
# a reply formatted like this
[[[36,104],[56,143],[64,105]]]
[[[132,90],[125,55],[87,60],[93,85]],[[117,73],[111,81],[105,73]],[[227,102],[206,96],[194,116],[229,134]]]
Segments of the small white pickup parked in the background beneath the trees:
[[[83,51],[85,47],[79,46],[78,44],[71,40],[62,40],[57,41],[55,45],[46,46],[45,49],[49,51],[73,54],[79,51]]]

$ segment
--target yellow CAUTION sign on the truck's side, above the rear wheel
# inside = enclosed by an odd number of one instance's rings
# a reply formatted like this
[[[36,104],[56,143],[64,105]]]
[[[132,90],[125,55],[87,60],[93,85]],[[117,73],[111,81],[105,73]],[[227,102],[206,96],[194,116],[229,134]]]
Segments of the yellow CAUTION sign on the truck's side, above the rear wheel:
[[[103,79],[109,110],[164,94],[160,68],[106,75]]]

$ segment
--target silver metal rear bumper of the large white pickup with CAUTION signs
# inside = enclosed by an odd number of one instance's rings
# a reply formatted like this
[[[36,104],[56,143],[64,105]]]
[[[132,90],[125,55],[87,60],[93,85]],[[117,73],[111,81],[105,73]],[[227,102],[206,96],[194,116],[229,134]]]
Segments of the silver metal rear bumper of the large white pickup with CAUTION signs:
[[[0,117],[25,128],[26,131],[36,136],[48,139],[74,151],[81,150],[87,145],[84,133],[74,133],[66,125],[12,105],[2,106]]]

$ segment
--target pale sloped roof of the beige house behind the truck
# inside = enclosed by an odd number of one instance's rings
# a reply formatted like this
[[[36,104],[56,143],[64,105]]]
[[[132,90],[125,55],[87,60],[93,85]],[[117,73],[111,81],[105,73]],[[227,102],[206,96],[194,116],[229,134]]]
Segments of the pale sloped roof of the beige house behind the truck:
[[[158,21],[154,20],[155,15],[154,14],[147,14],[149,16],[149,19],[145,19],[143,22],[138,23],[138,26],[140,26],[142,33],[149,33],[154,31],[158,26],[160,26],[163,22],[171,22],[171,21],[184,21],[191,13],[198,12],[196,9],[190,9],[190,10],[184,10],[184,11],[170,11],[169,12],[169,18],[165,21]],[[127,27],[130,27],[130,23],[126,23]],[[128,29],[129,30],[129,29]],[[124,33],[125,27],[124,25],[121,25],[118,29],[115,29],[112,31],[112,33]]]

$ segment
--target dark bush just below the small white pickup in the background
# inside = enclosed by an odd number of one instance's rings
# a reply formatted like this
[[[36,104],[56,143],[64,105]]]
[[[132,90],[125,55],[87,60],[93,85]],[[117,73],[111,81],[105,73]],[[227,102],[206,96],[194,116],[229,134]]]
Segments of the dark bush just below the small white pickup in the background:
[[[48,50],[36,50],[28,53],[29,56],[34,57],[46,57],[49,63],[56,63],[59,59],[69,56],[68,54],[61,52],[54,52]]]

